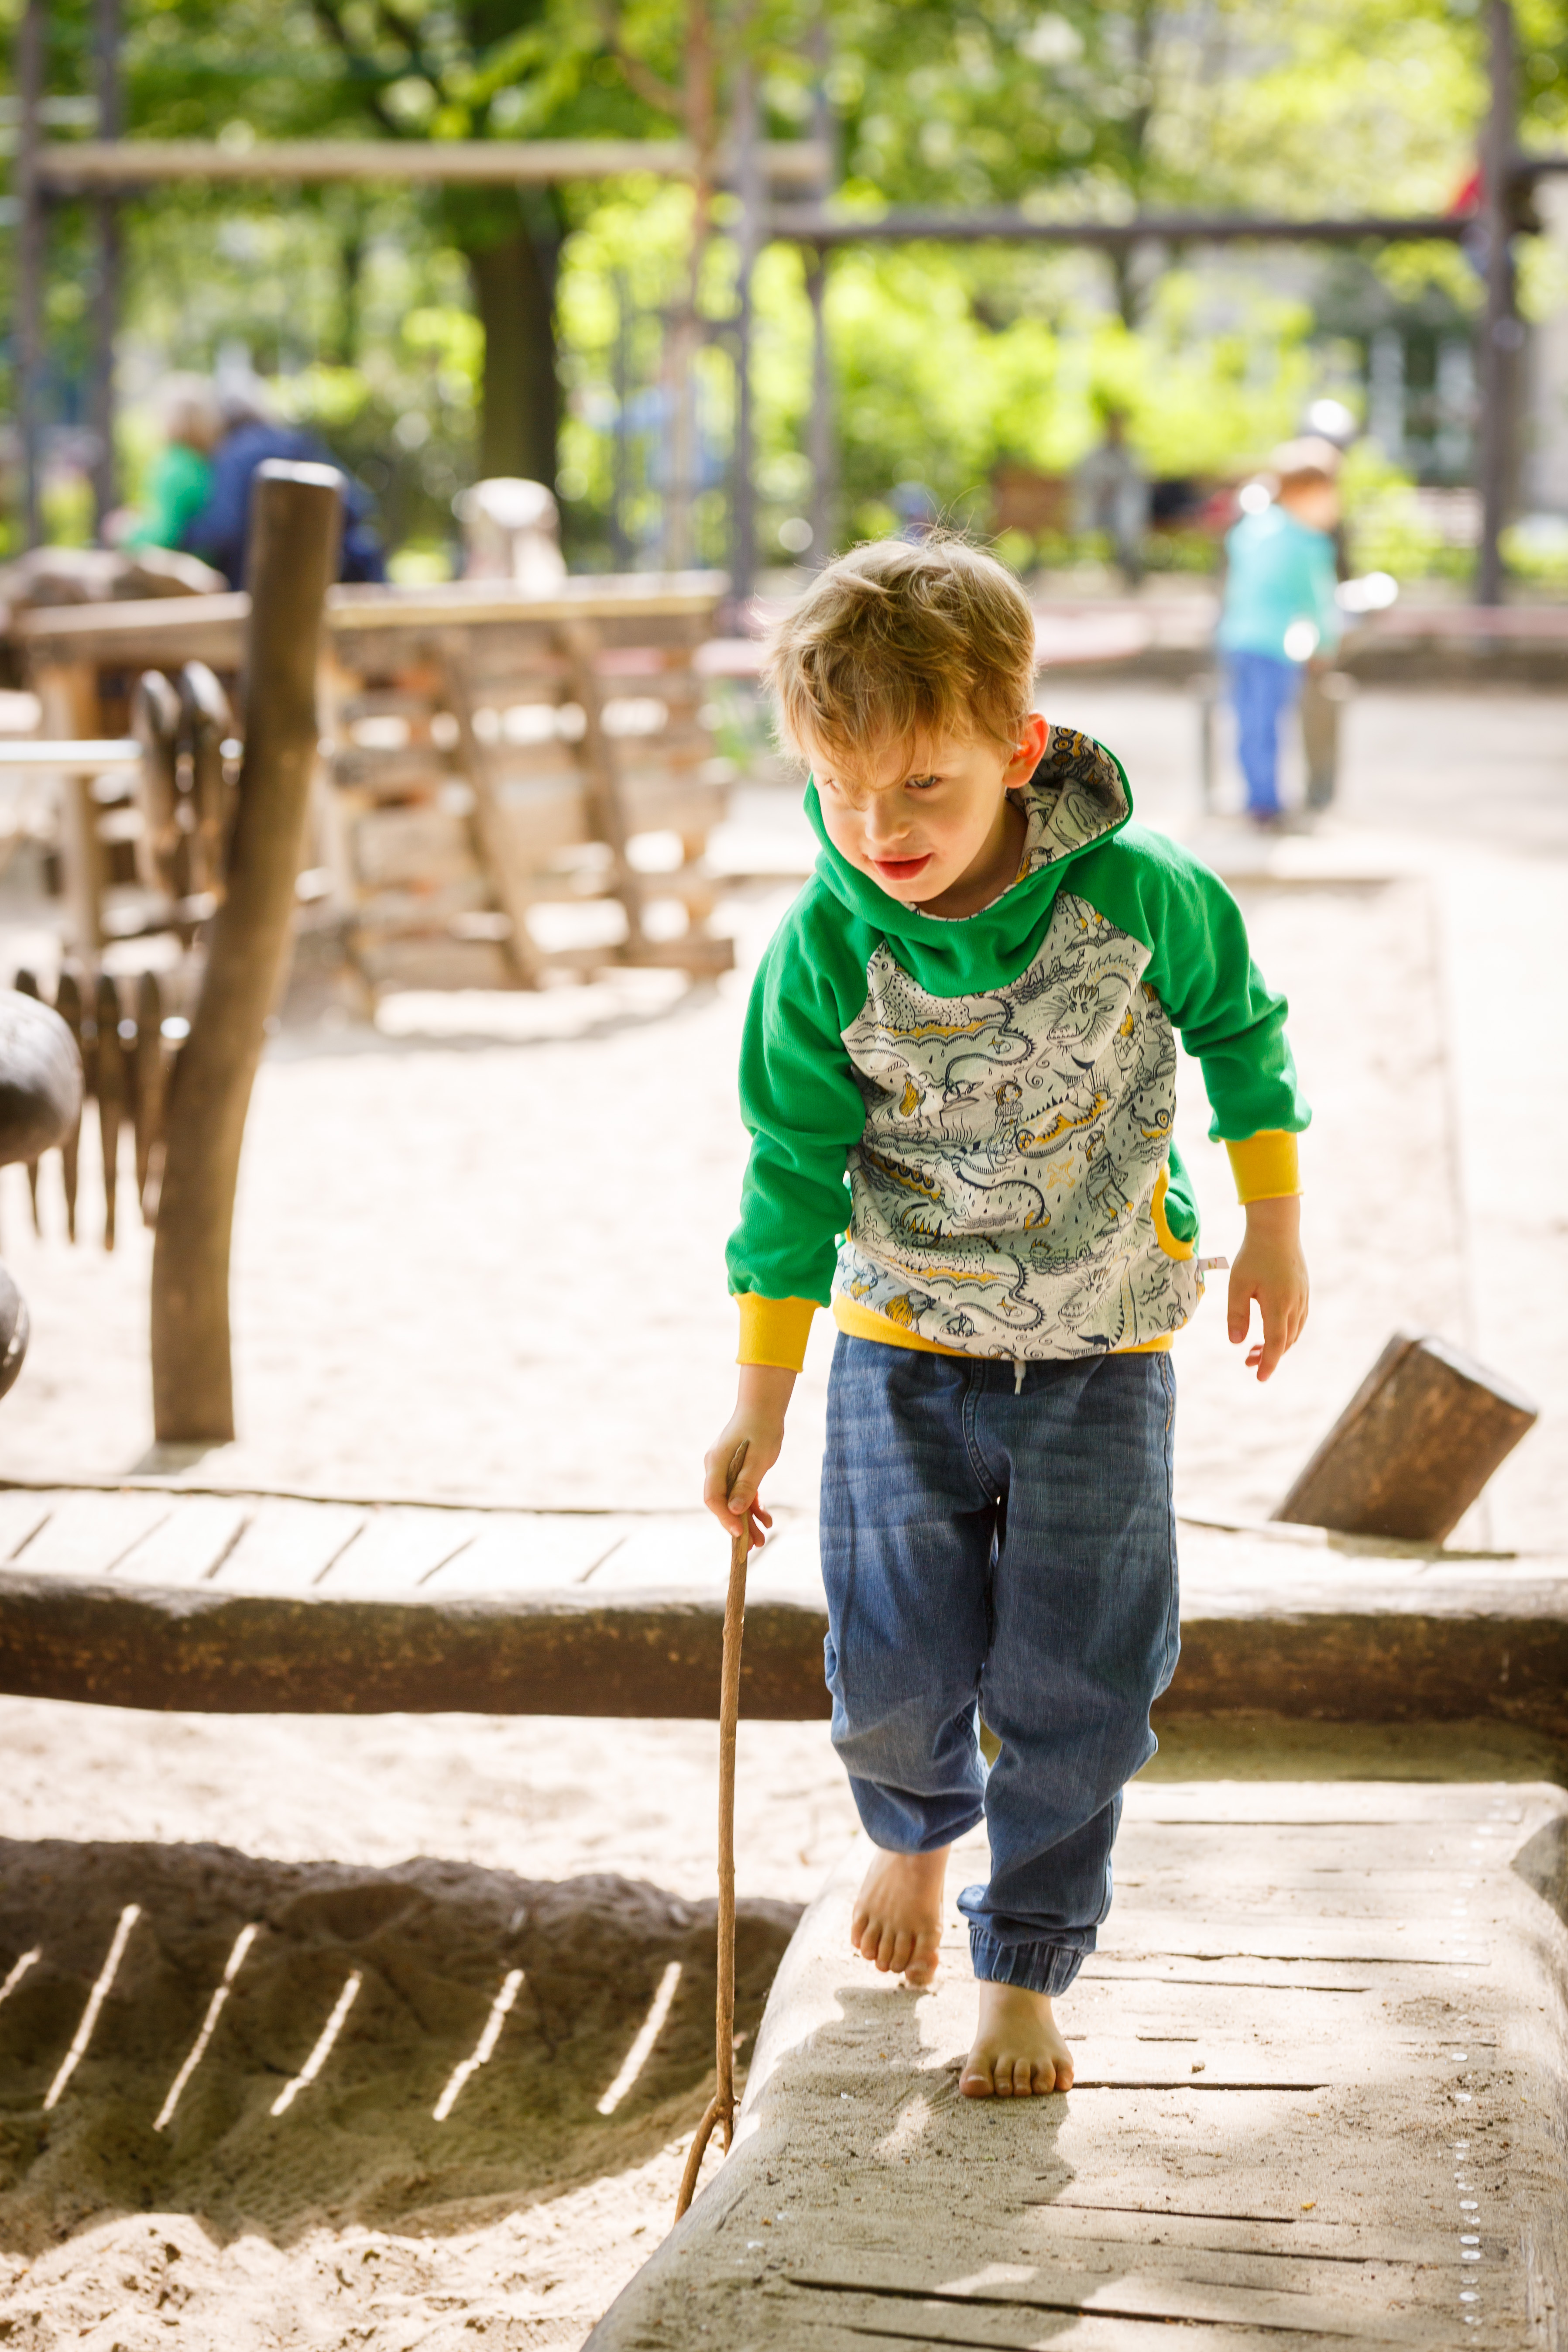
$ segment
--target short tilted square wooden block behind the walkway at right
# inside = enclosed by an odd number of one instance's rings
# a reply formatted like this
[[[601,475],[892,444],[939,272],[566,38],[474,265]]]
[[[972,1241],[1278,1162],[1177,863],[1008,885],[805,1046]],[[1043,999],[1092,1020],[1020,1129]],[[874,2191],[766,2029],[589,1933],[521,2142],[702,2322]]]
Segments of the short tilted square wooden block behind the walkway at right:
[[[1443,1543],[1535,1418],[1502,1374],[1396,1331],[1274,1517]]]

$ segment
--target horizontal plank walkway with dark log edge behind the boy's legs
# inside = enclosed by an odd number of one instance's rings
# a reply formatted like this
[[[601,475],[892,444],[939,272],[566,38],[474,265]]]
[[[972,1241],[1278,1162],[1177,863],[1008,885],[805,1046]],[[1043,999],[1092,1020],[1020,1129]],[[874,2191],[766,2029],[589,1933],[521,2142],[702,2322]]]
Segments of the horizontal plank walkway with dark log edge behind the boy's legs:
[[[1182,1522],[1161,1715],[1490,1717],[1568,1752],[1568,1559]],[[708,1717],[705,1512],[527,1512],[176,1486],[0,1489],[0,1691],[219,1712]],[[811,1719],[811,1517],[752,1564],[741,1705]]]

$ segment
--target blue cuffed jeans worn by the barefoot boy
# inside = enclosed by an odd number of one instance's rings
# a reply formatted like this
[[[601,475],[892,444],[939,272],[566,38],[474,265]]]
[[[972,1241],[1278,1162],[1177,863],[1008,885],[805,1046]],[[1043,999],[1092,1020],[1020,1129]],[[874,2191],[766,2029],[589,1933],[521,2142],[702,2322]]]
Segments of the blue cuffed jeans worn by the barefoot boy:
[[[823,1458],[832,1745],[877,1846],[985,1816],[978,1978],[1063,1992],[1175,1672],[1168,1355],[1023,1369],[837,1338]],[[1001,1743],[990,1773],[978,1717]]]

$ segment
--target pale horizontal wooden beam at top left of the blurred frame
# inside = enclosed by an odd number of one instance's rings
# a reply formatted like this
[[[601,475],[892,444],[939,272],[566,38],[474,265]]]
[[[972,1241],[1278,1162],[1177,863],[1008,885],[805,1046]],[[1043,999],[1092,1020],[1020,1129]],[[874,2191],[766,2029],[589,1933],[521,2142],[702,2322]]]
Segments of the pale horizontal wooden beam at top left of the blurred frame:
[[[273,139],[233,148],[216,139],[59,139],[38,148],[35,169],[40,186],[56,195],[160,188],[179,179],[550,186],[628,172],[689,179],[696,151],[686,139]],[[722,155],[719,176],[731,169]],[[766,139],[762,172],[776,186],[818,188],[827,151],[813,139]]]

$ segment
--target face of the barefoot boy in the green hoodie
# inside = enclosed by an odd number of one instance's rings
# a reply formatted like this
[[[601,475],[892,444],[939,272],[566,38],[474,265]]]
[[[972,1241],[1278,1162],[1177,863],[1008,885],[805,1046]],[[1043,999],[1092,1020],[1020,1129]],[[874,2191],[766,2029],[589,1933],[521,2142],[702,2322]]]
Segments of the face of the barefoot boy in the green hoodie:
[[[827,840],[905,906],[929,906],[957,884],[985,880],[1006,851],[1006,795],[1039,767],[1046,734],[1044,717],[1032,713],[1016,746],[985,734],[938,734],[816,753],[811,774]]]

